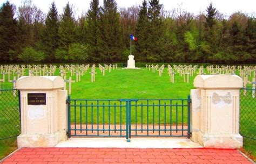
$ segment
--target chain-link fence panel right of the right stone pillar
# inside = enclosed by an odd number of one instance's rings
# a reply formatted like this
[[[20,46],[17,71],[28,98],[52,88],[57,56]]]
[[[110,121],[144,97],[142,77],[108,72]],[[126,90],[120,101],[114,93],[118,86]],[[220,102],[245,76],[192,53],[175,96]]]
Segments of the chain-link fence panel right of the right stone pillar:
[[[256,154],[256,90],[242,88],[240,90],[240,134],[244,148]]]

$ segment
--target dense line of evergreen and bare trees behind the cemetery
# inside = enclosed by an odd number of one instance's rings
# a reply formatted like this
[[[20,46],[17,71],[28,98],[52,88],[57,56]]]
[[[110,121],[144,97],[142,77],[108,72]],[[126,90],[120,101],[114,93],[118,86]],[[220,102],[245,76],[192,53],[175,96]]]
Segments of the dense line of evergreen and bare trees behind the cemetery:
[[[256,19],[234,12],[225,17],[213,4],[198,15],[165,11],[159,0],[118,9],[114,0],[91,0],[75,18],[68,3],[44,13],[31,0],[0,8],[1,63],[140,62],[256,63]],[[15,15],[17,13],[17,15]]]

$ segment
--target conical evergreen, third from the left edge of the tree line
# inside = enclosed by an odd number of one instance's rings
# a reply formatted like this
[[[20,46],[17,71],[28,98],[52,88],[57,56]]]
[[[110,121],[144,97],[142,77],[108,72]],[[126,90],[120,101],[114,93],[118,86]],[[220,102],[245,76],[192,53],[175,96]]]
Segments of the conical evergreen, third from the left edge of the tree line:
[[[68,52],[69,46],[75,42],[76,24],[70,4],[66,4],[59,23],[59,48]]]

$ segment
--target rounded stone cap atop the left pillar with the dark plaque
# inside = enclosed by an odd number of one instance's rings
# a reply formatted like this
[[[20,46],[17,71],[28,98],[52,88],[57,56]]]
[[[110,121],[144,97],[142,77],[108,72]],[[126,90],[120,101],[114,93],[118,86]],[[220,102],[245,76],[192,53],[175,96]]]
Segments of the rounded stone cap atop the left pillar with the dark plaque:
[[[62,89],[64,80],[60,76],[22,76],[17,80],[17,89]]]

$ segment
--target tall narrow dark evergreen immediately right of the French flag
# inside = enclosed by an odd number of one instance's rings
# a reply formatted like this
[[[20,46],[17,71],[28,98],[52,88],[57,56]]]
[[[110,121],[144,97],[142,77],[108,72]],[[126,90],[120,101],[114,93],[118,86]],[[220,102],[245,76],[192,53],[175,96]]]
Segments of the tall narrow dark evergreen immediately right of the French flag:
[[[147,1],[142,2],[139,11],[138,24],[136,26],[136,34],[138,41],[136,42],[136,55],[138,60],[145,61],[147,54],[149,53],[148,33],[149,19],[147,17]]]

